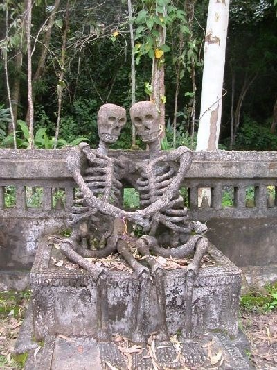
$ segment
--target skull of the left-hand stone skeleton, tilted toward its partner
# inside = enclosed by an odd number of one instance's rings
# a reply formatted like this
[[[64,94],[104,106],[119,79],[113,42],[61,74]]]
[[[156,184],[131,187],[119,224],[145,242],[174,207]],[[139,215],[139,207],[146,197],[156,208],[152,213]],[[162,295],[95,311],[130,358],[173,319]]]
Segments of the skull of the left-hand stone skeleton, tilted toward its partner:
[[[116,142],[121,128],[126,123],[126,110],[115,104],[104,104],[97,116],[100,140],[112,144]]]

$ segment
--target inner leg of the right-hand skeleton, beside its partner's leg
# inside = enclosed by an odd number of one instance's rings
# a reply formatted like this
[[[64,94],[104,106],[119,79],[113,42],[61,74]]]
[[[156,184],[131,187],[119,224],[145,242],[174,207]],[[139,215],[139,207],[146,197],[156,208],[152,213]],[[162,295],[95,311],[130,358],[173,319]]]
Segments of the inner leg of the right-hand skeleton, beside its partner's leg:
[[[166,341],[168,340],[169,335],[168,327],[166,325],[166,294],[163,282],[163,267],[150,255],[149,244],[157,244],[157,240],[154,237],[143,235],[136,242],[136,246],[139,249],[139,252],[145,257],[146,262],[151,267],[152,276],[154,278],[154,285],[156,287],[157,293],[159,317],[161,318],[158,339]]]

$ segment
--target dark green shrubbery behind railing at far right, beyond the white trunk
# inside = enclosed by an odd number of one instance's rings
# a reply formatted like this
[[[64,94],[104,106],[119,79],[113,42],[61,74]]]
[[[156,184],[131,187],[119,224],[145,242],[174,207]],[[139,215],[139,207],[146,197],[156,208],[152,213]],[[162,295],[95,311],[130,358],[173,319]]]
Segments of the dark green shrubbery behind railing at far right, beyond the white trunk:
[[[242,127],[235,141],[235,149],[255,151],[276,151],[277,136],[270,132],[269,126],[263,126],[244,115]]]

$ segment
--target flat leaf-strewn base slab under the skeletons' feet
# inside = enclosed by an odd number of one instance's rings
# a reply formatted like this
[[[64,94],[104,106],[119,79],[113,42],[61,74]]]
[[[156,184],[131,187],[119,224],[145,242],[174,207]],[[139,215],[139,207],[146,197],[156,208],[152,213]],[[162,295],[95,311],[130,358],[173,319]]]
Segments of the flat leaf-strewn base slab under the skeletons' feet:
[[[16,353],[28,351],[25,370],[254,369],[244,353],[245,339],[232,340],[223,333],[205,333],[192,343],[179,342],[174,337],[171,342],[152,339],[141,346],[123,337],[98,342],[93,337],[65,335],[49,336],[35,344],[30,335],[31,316],[28,310],[15,348]],[[186,357],[188,346],[195,347],[195,357],[202,353],[202,364],[197,367]]]

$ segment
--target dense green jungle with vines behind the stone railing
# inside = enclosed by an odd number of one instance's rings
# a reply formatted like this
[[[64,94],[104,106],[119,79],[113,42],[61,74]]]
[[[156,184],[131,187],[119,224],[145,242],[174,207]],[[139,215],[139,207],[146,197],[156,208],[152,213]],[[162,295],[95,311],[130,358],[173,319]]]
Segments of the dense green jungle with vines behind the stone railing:
[[[0,3],[1,147],[14,145],[7,79],[17,147],[28,146],[26,3],[26,0]],[[158,50],[165,70],[166,137],[162,146],[195,148],[208,0],[132,0],[131,6],[132,17],[127,0],[33,1],[35,147],[54,146],[57,124],[57,147],[77,144],[84,138],[92,147],[97,146],[96,119],[100,106],[116,103],[127,112],[132,106],[132,53],[135,99],[150,99],[152,60],[157,58],[155,32],[163,26],[166,42]],[[154,13],[155,6],[166,7],[166,17]],[[231,1],[221,149],[277,150],[276,19],[276,0]],[[130,24],[134,27],[134,49]],[[78,137],[80,140],[76,140]],[[114,147],[127,149],[131,144],[132,126],[128,119]]]

